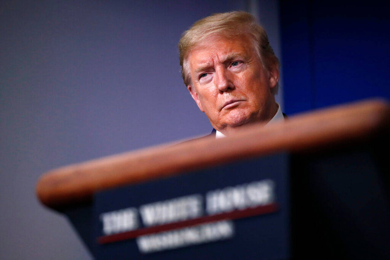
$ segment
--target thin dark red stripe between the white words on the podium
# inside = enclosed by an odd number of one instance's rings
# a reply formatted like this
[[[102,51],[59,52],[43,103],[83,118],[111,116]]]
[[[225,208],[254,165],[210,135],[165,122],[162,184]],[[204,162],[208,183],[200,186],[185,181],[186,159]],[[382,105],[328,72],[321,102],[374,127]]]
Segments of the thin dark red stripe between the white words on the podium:
[[[160,226],[151,226],[151,227],[147,227],[147,228],[140,228],[137,230],[118,233],[115,235],[101,236],[101,237],[97,238],[97,242],[99,244],[107,244],[107,243],[122,241],[122,240],[126,240],[126,239],[133,239],[133,238],[139,237],[141,235],[149,235],[152,233],[169,231],[169,230],[174,230],[174,229],[178,229],[178,228],[185,228],[188,226],[195,226],[195,225],[199,225],[199,224],[215,222],[215,221],[220,221],[220,220],[248,218],[248,217],[252,217],[252,216],[272,213],[272,212],[275,212],[277,210],[278,210],[277,203],[271,203],[268,205],[257,206],[257,207],[244,209],[244,210],[234,210],[234,211],[227,212],[227,213],[221,213],[221,214],[210,215],[210,216],[202,216],[200,218],[189,219],[189,220],[185,220],[185,221],[174,222],[174,223],[169,223],[169,224],[160,225]]]

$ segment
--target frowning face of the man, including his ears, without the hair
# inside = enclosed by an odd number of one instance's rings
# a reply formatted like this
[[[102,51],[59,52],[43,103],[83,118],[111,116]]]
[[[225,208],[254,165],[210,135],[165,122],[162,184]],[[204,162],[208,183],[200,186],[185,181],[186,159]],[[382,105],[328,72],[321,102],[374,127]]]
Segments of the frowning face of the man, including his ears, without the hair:
[[[268,122],[277,111],[271,88],[278,68],[264,69],[246,37],[212,37],[188,55],[192,84],[188,90],[211,125],[228,133],[250,122]]]

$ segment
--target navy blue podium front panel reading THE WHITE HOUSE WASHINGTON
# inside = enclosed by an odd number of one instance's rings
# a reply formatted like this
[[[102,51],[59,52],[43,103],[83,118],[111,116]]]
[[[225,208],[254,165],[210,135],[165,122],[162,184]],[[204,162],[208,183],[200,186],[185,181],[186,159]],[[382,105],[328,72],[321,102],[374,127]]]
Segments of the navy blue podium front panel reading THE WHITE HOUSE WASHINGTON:
[[[286,259],[288,160],[276,154],[99,192],[99,259]]]

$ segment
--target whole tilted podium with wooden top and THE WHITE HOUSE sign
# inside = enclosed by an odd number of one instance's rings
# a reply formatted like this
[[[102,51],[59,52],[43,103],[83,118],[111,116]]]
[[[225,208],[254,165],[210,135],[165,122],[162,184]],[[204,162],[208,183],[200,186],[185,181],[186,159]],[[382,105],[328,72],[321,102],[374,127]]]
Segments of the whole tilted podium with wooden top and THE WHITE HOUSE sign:
[[[37,196],[97,259],[386,259],[389,129],[386,101],[346,104],[58,168]]]

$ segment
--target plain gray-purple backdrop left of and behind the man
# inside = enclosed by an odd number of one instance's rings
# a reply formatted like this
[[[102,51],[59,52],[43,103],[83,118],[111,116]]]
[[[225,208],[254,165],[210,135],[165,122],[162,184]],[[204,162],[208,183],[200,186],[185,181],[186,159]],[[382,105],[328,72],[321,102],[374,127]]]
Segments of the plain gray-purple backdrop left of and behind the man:
[[[259,15],[280,57],[278,1],[0,4],[1,259],[90,258],[67,220],[37,201],[39,176],[209,133],[177,42],[197,19],[240,9]]]

